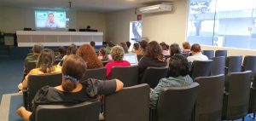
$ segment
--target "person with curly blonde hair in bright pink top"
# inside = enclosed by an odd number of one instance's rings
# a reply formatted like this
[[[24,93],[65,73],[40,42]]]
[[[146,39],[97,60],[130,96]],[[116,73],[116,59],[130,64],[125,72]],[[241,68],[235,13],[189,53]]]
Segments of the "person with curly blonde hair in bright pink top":
[[[111,51],[110,55],[112,56],[112,60],[108,62],[108,64],[105,66],[107,69],[107,78],[111,78],[111,69],[113,66],[131,66],[130,62],[123,60],[125,55],[125,50],[120,47],[119,45],[114,46]]]

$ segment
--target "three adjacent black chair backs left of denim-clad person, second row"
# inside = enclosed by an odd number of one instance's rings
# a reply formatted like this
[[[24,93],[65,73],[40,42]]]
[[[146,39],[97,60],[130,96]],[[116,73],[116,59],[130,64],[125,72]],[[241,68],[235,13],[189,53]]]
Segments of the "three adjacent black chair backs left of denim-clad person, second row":
[[[129,73],[127,73],[129,72]],[[138,66],[114,66],[111,69],[111,78],[117,78],[124,83],[125,87],[130,87],[140,84],[149,84],[151,88],[154,88],[160,78],[166,78],[166,67],[148,67],[143,74],[143,78],[138,82]],[[87,78],[96,78],[100,80],[106,80],[106,68],[100,67],[95,69],[88,69],[82,80]],[[156,81],[157,80],[157,81]]]

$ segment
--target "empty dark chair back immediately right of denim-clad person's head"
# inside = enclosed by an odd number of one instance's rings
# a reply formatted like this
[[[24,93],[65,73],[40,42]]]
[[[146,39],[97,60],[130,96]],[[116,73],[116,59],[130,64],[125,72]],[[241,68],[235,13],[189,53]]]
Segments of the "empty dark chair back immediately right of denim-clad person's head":
[[[190,76],[193,79],[210,76],[211,68],[212,60],[194,60],[191,65]]]

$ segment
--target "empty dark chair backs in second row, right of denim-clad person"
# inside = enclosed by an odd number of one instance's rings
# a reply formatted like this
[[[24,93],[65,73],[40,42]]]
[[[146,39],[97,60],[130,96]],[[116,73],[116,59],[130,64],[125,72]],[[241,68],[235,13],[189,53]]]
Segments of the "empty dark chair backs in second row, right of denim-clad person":
[[[256,73],[256,56],[247,55],[242,62],[242,56],[212,57],[212,60],[194,61],[191,66],[191,77],[207,77],[230,72],[244,72],[251,70]]]

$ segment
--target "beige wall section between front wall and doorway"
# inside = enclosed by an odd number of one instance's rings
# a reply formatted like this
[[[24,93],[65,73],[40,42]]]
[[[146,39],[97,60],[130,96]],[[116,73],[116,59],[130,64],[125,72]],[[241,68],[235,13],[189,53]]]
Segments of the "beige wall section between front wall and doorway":
[[[129,41],[130,21],[137,20],[135,9],[107,14],[107,41],[121,43]]]

